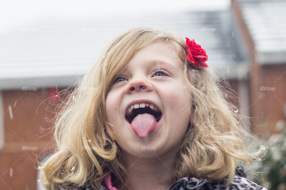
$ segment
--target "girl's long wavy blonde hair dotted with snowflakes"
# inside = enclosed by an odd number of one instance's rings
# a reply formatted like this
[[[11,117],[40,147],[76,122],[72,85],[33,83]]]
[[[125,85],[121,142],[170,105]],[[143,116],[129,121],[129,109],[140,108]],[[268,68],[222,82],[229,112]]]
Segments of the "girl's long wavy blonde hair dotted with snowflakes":
[[[59,189],[58,184],[71,189],[86,183],[97,189],[108,174],[113,186],[124,189],[128,176],[120,146],[106,120],[105,98],[114,77],[130,58],[140,48],[158,42],[172,47],[181,58],[184,82],[192,101],[192,124],[176,154],[174,174],[172,179],[162,182],[171,185],[186,176],[227,177],[226,185],[229,185],[240,162],[252,164],[252,159],[258,159],[262,149],[248,152],[244,141],[246,136],[252,136],[241,125],[243,115],[227,101],[225,94],[229,93],[224,92],[212,69],[188,64],[186,43],[178,35],[136,27],[108,44],[62,103],[55,116],[57,148],[38,167],[45,189]]]

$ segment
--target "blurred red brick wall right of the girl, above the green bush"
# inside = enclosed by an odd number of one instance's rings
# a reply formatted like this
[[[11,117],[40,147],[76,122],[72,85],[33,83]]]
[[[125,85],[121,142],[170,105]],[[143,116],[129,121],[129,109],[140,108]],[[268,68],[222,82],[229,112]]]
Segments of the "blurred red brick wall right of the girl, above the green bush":
[[[286,63],[260,66],[260,71],[261,83],[259,82],[260,85],[252,89],[252,91],[257,91],[257,98],[260,98],[251,106],[251,117],[257,117],[254,118],[254,121],[260,126],[253,126],[253,132],[255,134],[274,133],[277,121],[286,119],[284,113],[286,108]],[[262,86],[274,87],[275,90],[260,90]]]

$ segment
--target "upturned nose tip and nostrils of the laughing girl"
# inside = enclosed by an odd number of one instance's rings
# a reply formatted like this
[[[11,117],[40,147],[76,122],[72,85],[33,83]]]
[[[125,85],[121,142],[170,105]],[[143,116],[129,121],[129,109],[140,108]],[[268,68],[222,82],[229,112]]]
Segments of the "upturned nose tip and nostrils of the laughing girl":
[[[143,77],[132,79],[128,85],[125,86],[125,93],[130,94],[132,91],[152,91],[153,86]]]

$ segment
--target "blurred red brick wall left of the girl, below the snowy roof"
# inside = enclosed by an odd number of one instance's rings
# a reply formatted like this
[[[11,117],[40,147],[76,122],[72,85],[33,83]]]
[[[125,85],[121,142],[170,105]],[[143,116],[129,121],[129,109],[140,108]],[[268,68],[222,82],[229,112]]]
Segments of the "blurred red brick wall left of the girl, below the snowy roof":
[[[52,146],[52,130],[49,129],[52,122],[47,121],[54,117],[59,103],[49,99],[51,93],[52,89],[2,92],[5,144],[0,151],[0,189],[36,189],[36,156],[47,156],[50,151],[44,151]],[[13,118],[8,111],[9,105]],[[30,150],[23,150],[22,146]],[[13,169],[12,176],[10,168]]]

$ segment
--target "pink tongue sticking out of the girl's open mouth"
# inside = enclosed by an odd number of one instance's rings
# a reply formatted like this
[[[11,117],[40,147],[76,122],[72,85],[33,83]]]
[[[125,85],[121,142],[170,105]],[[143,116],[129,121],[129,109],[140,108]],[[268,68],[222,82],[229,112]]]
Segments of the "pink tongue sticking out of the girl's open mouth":
[[[140,138],[148,137],[153,132],[156,124],[156,118],[149,113],[142,113],[137,115],[131,122],[132,130]]]

